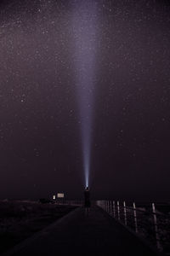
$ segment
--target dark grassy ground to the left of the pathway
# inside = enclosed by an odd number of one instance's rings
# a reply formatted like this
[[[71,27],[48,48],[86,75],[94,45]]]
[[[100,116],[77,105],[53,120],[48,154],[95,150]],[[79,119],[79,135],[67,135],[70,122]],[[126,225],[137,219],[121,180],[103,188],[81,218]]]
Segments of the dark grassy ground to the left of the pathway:
[[[0,253],[74,209],[37,201],[0,201]]]

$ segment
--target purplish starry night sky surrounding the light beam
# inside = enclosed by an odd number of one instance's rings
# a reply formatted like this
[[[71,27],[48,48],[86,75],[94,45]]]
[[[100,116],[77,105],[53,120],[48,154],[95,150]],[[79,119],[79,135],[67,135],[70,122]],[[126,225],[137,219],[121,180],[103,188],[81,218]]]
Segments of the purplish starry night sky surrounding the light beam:
[[[82,195],[82,3],[0,2],[0,198]],[[170,4],[94,4],[94,198],[170,200]]]

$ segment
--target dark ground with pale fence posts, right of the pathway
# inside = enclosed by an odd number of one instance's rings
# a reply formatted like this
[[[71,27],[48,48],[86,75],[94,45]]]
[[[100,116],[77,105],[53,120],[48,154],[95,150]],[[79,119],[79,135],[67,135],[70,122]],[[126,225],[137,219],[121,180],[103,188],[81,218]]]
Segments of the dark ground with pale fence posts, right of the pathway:
[[[156,212],[155,203],[151,203],[147,209],[136,207],[135,202],[127,205],[126,201],[97,201],[97,205],[146,238],[160,252],[170,255],[170,216]]]

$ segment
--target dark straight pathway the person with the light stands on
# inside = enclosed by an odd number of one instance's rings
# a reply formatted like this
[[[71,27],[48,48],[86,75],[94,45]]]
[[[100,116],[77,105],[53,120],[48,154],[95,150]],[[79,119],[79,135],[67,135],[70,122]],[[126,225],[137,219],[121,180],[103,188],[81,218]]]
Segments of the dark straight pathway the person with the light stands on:
[[[78,208],[27,239],[8,256],[153,256],[149,248],[99,207]]]

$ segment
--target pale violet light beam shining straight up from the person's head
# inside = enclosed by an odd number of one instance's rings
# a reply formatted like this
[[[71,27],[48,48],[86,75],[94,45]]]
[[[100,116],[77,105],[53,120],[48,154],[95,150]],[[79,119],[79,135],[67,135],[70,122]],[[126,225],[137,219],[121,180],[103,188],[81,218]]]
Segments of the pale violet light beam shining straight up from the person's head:
[[[96,3],[93,0],[75,0],[73,4],[77,100],[85,185],[88,186],[94,109]]]

